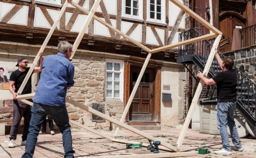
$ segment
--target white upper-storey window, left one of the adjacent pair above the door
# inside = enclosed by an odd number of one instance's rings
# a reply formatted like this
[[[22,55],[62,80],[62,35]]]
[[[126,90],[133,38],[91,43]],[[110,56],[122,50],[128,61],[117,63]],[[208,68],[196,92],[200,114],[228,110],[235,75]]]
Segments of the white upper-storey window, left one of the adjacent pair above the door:
[[[143,20],[143,1],[141,0],[123,0],[122,17]]]

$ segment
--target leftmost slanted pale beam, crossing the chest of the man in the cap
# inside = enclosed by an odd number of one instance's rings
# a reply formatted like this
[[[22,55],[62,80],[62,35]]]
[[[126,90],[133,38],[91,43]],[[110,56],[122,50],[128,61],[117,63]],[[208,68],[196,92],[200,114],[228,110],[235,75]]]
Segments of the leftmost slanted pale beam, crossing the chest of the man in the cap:
[[[37,53],[37,55],[36,55],[36,57],[35,57],[35,60],[33,61],[33,64],[32,64],[31,67],[30,67],[29,72],[27,72],[26,77],[24,78],[24,81],[22,82],[21,87],[20,87],[20,89],[19,89],[18,92],[17,92],[18,95],[20,95],[20,94],[22,93],[22,91],[23,91],[23,89],[24,89],[24,87],[25,87],[27,81],[29,80],[29,78],[30,78],[32,72],[34,71],[34,68],[35,68],[37,62],[38,62],[39,59],[40,59],[39,53],[44,51],[45,46],[48,44],[48,42],[49,42],[49,40],[50,40],[50,38],[51,38],[51,36],[52,36],[52,33],[53,33],[54,29],[56,28],[56,26],[58,25],[58,23],[59,23],[59,21],[60,21],[60,18],[61,18],[61,16],[62,16],[62,14],[64,13],[65,9],[67,8],[67,6],[68,6],[68,1],[65,1],[65,3],[63,4],[63,6],[62,6],[62,8],[61,8],[61,11],[60,11],[59,16],[56,18],[56,21],[55,21],[54,24],[52,25],[52,27],[51,27],[51,29],[50,29],[50,32],[49,32],[48,35],[46,36],[43,45],[41,46],[39,52]]]

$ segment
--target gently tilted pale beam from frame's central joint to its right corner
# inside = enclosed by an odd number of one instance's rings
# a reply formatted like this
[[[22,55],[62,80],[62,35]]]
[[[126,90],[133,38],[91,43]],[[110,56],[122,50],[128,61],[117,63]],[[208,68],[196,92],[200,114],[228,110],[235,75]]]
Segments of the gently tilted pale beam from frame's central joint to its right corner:
[[[175,43],[175,44],[170,44],[170,45],[166,45],[166,46],[163,46],[163,47],[155,48],[154,50],[151,50],[151,53],[157,53],[157,52],[169,50],[171,48],[175,48],[175,47],[178,47],[178,46],[182,46],[182,45],[186,45],[186,44],[190,44],[190,43],[195,43],[195,42],[198,42],[198,41],[208,40],[208,39],[214,38],[216,36],[217,35],[215,33],[212,33],[212,34],[207,34],[207,35],[203,35],[203,36],[200,36],[200,37],[195,37],[195,38],[192,38],[192,39],[189,39],[189,40],[186,40],[186,41],[182,41],[182,42],[178,42],[178,43]]]

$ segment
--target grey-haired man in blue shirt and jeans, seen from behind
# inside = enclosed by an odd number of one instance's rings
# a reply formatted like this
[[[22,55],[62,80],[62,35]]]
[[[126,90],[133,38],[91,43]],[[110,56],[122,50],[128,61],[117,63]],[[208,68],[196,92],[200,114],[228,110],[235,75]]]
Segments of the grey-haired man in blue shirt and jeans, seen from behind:
[[[46,56],[43,60],[43,71],[31,108],[29,134],[22,157],[33,157],[37,136],[47,115],[53,118],[62,133],[64,157],[74,157],[69,116],[65,106],[67,90],[74,85],[74,65],[68,60],[72,55],[72,47],[69,42],[60,42],[59,53]]]

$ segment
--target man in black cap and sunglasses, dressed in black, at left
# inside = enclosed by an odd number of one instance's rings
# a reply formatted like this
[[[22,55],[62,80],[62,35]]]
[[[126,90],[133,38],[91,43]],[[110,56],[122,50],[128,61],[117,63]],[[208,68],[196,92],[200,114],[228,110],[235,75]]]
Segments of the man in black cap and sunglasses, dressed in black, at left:
[[[42,71],[42,61],[43,61],[43,53],[40,53],[40,66],[34,68],[34,73],[38,73]],[[20,57],[17,60],[16,66],[18,66],[18,69],[14,71],[10,76],[10,82],[9,82],[9,90],[13,94],[13,124],[11,126],[10,131],[10,142],[8,144],[8,147],[14,147],[14,140],[16,140],[17,137],[17,131],[18,127],[20,126],[21,118],[24,117],[24,129],[22,133],[22,143],[21,145],[25,145],[27,134],[29,133],[29,125],[30,125],[30,118],[31,118],[31,111],[30,105],[27,105],[21,101],[17,100],[17,92],[20,88],[22,82],[24,81],[24,78],[26,77],[26,74],[29,72],[30,67],[27,67],[27,64],[29,62],[25,57]],[[32,76],[32,75],[31,75]],[[31,93],[31,76],[29,80],[27,81],[24,90],[21,94],[30,94]],[[13,86],[15,86],[15,91],[13,90]]]

